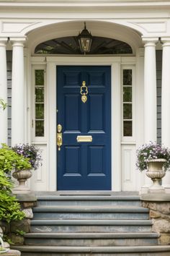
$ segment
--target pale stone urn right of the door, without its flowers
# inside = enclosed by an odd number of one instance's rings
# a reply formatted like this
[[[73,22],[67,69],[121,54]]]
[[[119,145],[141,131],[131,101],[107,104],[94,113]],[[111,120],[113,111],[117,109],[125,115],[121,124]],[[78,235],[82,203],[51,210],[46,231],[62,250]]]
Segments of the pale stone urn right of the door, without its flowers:
[[[165,162],[166,159],[152,159],[148,161],[146,175],[151,178],[153,182],[149,188],[149,192],[164,192],[164,187],[161,186],[161,179],[166,174],[163,168]]]

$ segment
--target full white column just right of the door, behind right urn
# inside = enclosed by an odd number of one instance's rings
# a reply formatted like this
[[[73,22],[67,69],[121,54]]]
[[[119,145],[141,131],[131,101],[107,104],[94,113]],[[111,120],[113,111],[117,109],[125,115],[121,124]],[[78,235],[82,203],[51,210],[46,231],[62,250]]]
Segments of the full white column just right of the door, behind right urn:
[[[156,42],[158,38],[143,38],[144,56],[144,138],[145,143],[157,140],[156,108]],[[145,185],[141,192],[148,192],[151,179],[145,175]]]

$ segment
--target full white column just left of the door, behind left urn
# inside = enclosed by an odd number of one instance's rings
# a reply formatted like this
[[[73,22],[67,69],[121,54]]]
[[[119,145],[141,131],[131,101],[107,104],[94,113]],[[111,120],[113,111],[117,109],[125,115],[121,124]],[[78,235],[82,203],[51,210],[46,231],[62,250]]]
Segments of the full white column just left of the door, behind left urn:
[[[12,40],[12,145],[24,143],[24,40]]]

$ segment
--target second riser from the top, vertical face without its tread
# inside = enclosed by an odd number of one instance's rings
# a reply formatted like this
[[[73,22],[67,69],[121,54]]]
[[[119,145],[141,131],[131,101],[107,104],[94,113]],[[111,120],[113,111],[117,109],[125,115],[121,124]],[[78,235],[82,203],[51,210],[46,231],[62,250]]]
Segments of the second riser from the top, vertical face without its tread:
[[[148,213],[34,213],[34,219],[124,219],[147,220]]]

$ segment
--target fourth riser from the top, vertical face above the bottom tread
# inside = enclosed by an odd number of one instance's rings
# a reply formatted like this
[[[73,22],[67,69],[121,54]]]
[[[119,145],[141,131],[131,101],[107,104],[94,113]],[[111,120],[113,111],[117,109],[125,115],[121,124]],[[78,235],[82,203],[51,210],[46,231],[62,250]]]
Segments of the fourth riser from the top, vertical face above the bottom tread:
[[[156,245],[157,239],[25,239],[26,245],[42,246],[140,246]]]

